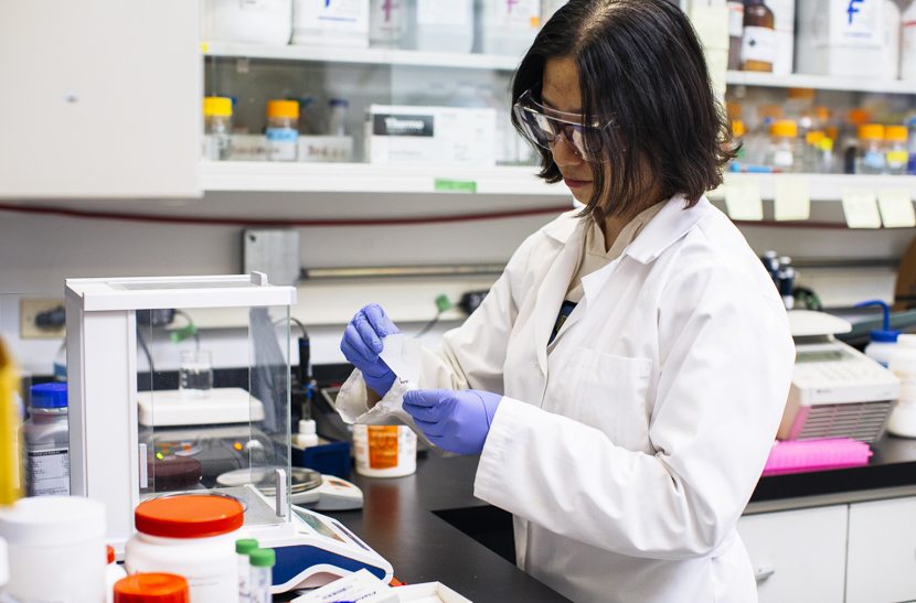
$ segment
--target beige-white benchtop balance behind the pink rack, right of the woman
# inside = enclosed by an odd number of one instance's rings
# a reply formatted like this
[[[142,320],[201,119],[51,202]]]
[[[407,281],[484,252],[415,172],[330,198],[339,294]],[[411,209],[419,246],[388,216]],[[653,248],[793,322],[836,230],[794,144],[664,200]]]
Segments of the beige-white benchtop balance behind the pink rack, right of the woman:
[[[777,438],[852,438],[863,442],[881,438],[901,396],[899,379],[833,337],[852,331],[843,319],[792,310],[789,324],[796,362]]]

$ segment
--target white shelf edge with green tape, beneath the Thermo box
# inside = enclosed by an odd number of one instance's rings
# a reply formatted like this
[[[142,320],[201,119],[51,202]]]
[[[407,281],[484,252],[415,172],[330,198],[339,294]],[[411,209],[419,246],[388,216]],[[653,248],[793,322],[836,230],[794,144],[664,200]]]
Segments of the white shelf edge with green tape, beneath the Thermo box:
[[[324,193],[480,193],[569,197],[536,168],[374,165],[369,163],[201,162],[204,191]]]

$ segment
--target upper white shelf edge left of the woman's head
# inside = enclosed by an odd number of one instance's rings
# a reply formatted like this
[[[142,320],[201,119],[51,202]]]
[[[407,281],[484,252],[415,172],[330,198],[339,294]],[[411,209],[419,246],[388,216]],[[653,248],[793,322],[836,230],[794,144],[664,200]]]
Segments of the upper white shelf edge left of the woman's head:
[[[348,49],[345,46],[299,46],[292,44],[286,46],[262,46],[226,42],[204,42],[202,46],[204,54],[207,56],[273,58],[280,61],[418,65],[499,71],[513,71],[521,62],[521,56],[404,51],[398,49]]]

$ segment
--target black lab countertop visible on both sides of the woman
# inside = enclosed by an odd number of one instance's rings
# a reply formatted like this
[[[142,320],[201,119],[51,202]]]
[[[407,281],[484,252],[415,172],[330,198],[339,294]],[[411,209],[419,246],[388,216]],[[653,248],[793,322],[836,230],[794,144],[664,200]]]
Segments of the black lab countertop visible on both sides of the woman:
[[[867,465],[761,477],[747,513],[916,495],[916,440],[885,435],[872,450]],[[406,477],[353,473],[363,510],[328,515],[387,559],[403,582],[438,581],[475,603],[566,601],[508,560],[511,516],[473,497],[478,461],[427,453]]]

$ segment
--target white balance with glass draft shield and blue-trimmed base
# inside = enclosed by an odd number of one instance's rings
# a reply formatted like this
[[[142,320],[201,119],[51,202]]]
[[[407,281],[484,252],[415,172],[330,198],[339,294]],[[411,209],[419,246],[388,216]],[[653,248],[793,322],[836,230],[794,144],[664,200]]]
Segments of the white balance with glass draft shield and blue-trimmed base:
[[[119,557],[135,531],[138,504],[182,492],[212,493],[238,499],[246,536],[275,549],[275,593],[318,586],[360,569],[391,579],[391,564],[340,523],[294,504],[301,482],[313,477],[290,466],[295,288],[270,286],[254,272],[67,279],[65,294],[71,493],[105,504],[107,541]],[[173,309],[220,314],[233,337],[210,345],[217,357],[234,353],[235,366],[247,365],[247,388],[189,394],[163,387],[169,381],[161,367],[194,345],[173,343],[170,325],[158,320],[161,310]],[[196,413],[196,424],[180,427],[189,413]],[[213,452],[214,443],[226,442],[232,455]],[[214,464],[215,457],[231,462]]]

